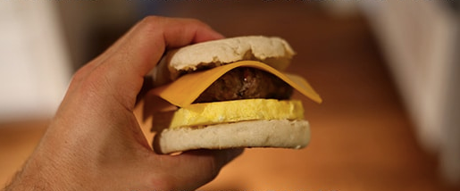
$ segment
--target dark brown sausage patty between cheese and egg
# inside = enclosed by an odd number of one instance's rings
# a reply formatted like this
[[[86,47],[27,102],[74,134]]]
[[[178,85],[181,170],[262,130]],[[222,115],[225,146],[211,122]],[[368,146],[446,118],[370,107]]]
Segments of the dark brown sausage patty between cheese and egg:
[[[195,103],[238,99],[289,99],[293,88],[272,73],[240,67],[225,73],[199,95]]]

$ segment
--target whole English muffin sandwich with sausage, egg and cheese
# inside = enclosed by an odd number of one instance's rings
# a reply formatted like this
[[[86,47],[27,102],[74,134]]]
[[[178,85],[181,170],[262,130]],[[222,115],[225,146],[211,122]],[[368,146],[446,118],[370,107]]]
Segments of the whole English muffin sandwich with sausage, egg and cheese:
[[[305,79],[284,72],[295,52],[280,37],[230,37],[168,52],[153,71],[153,94],[174,105],[156,112],[154,150],[299,149],[310,125],[294,91],[321,103]]]

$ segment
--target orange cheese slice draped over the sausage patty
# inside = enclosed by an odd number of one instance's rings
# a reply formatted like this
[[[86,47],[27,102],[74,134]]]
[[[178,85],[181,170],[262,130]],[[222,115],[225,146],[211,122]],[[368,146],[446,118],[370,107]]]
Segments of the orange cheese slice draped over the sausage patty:
[[[207,71],[189,73],[179,79],[176,79],[170,84],[164,85],[163,87],[156,87],[152,93],[162,97],[171,104],[180,107],[187,107],[192,104],[207,87],[210,87],[215,80],[221,78],[223,74],[237,67],[252,67],[270,72],[278,78],[284,80],[291,87],[294,87],[302,95],[309,97],[316,103],[322,103],[320,95],[318,95],[314,91],[314,88],[311,87],[310,84],[308,84],[308,82],[302,77],[293,74],[281,73],[263,62],[255,61],[233,62]]]

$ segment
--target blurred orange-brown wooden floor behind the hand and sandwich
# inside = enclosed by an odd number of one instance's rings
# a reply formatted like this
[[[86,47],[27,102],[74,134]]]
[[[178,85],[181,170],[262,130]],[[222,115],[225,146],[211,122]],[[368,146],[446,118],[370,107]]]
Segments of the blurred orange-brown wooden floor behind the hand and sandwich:
[[[206,21],[228,37],[286,38],[297,51],[289,71],[324,100],[295,95],[312,126],[305,149],[247,149],[202,190],[458,190],[442,184],[436,158],[417,143],[364,18],[333,17],[321,4],[301,1],[178,2],[173,9],[166,4],[166,14]],[[46,120],[3,126],[0,185],[38,143]]]

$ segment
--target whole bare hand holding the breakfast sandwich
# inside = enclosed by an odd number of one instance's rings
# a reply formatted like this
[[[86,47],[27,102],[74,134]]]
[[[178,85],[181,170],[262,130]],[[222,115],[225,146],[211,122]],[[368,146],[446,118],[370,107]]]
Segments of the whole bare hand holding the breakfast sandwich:
[[[38,147],[4,191],[193,190],[243,152],[155,154],[133,110],[164,51],[222,38],[204,23],[146,17],[77,71]]]

